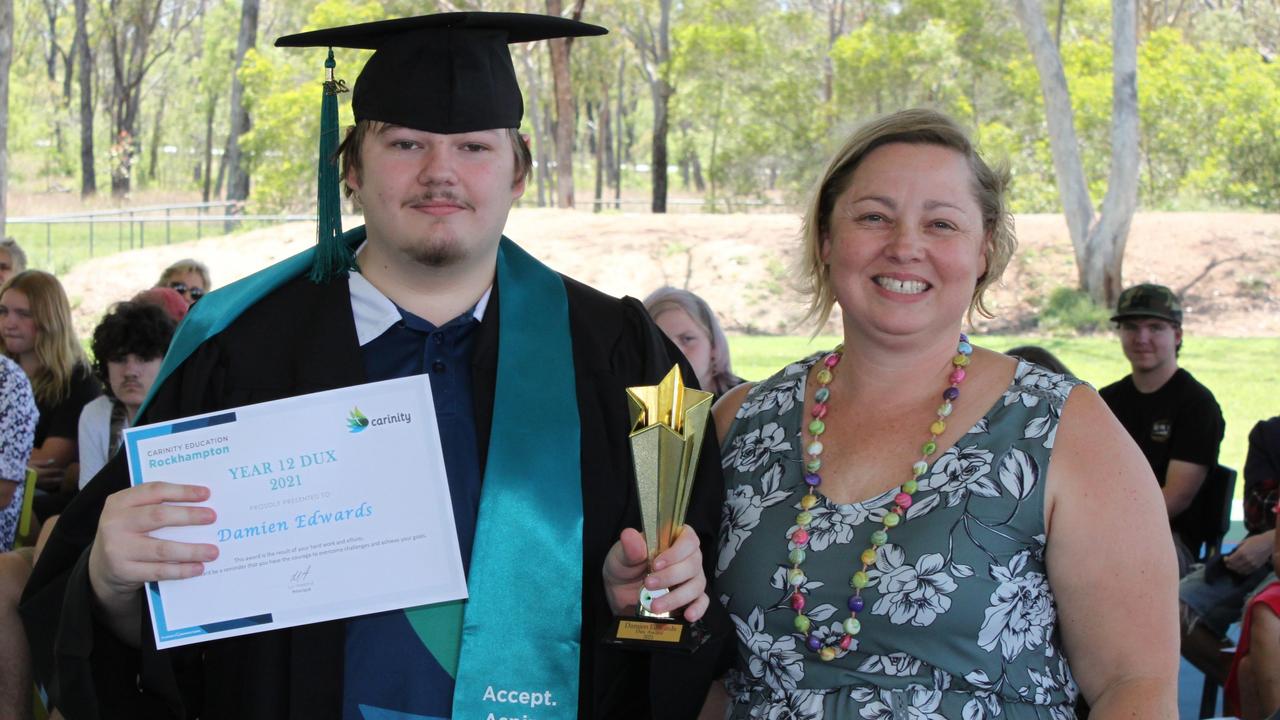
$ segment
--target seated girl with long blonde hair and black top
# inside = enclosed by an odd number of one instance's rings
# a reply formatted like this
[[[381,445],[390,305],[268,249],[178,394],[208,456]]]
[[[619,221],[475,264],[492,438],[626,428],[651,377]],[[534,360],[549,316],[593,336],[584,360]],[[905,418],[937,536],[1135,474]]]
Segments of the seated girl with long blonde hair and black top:
[[[77,460],[76,434],[81,410],[102,389],[93,379],[61,283],[41,270],[18,273],[0,286],[0,340],[4,355],[31,380],[40,410],[31,466],[44,489],[56,492]],[[36,514],[46,518],[54,509]]]

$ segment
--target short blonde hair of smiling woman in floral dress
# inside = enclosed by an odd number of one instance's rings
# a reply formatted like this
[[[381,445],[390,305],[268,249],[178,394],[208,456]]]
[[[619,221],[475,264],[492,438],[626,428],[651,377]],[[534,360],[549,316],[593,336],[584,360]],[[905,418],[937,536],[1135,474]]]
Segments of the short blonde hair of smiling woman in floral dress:
[[[870,120],[854,131],[845,145],[827,165],[805,208],[801,242],[804,254],[796,270],[801,292],[809,295],[805,320],[820,327],[831,316],[836,296],[831,287],[831,268],[822,259],[822,241],[831,229],[831,215],[836,200],[849,190],[858,165],[873,150],[891,142],[909,145],[937,145],[965,156],[973,172],[973,193],[982,209],[982,229],[986,236],[987,270],[978,278],[969,301],[969,319],[974,310],[984,318],[993,315],[987,309],[984,293],[1000,281],[1009,265],[1018,238],[1014,236],[1014,217],[1009,213],[1009,168],[992,169],[973,147],[968,133],[959,123],[936,110],[922,108],[900,110]]]

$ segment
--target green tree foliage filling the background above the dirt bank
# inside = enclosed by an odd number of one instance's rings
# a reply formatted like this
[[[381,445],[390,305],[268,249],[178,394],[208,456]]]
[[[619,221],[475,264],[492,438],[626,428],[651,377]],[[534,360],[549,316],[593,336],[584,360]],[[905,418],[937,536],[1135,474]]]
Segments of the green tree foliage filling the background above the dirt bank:
[[[122,0],[133,8],[138,0]],[[460,9],[543,10],[529,0],[460,1]],[[1138,47],[1140,205],[1144,209],[1280,209],[1280,63],[1258,47],[1280,44],[1274,3],[1239,9],[1187,4],[1152,15]],[[58,13],[50,32],[46,8]],[[168,8],[168,5],[166,5]],[[214,163],[227,143],[227,106],[236,72],[238,0],[207,0],[191,28],[160,56],[142,90],[134,186],[189,193],[202,181],[207,128]],[[1044,5],[1050,29],[1062,9],[1061,55],[1071,91],[1088,187],[1101,201],[1110,172],[1110,0]],[[73,72],[59,59],[49,77],[47,53],[70,50],[72,4],[15,0],[10,86],[9,187],[19,192],[78,188],[79,114]],[[90,4],[95,97],[110,82],[109,8]],[[124,10],[122,10],[124,12]],[[244,137],[253,209],[306,209],[314,197],[317,85],[324,50],[270,46],[275,35],[424,12],[408,0],[300,0],[262,5],[257,50],[239,69],[251,108]],[[672,60],[654,68],[671,78],[671,163],[696,159],[713,206],[741,200],[799,201],[827,154],[860,122],[906,106],[932,106],[974,128],[988,159],[1007,160],[1015,178],[1012,209],[1057,213],[1060,202],[1046,132],[1038,73],[1009,4],[989,0],[868,0],[829,36],[826,3],[685,0],[672,10]],[[630,36],[655,22],[653,3],[589,4],[585,19],[613,31],[573,44],[577,101],[573,124],[579,183],[590,187],[599,102],[608,97],[621,129],[623,163],[648,164],[652,95]],[[540,102],[552,82],[545,44],[527,46]],[[524,53],[522,46],[520,53]],[[355,82],[367,53],[339,50],[338,76]],[[517,72],[527,90],[524,63]],[[618,68],[625,109],[617,117]],[[74,70],[74,67],[72,68]],[[349,97],[340,97],[349,122]],[[160,106],[164,102],[161,114]],[[590,111],[588,104],[591,105]],[[111,128],[97,108],[97,176],[108,182]],[[530,108],[532,110],[532,108]],[[212,114],[210,114],[212,113]],[[526,113],[526,119],[531,115]],[[156,127],[156,123],[160,127]],[[526,122],[526,131],[531,132]],[[543,135],[549,128],[543,128]],[[548,138],[549,140],[549,138]],[[159,141],[159,142],[156,142]],[[547,140],[544,140],[545,142]],[[148,176],[157,151],[156,177]],[[214,173],[216,177],[216,172]],[[628,191],[646,188],[649,173],[627,169]],[[673,178],[678,191],[678,178]],[[584,195],[581,191],[580,196]],[[532,195],[530,195],[531,197]]]

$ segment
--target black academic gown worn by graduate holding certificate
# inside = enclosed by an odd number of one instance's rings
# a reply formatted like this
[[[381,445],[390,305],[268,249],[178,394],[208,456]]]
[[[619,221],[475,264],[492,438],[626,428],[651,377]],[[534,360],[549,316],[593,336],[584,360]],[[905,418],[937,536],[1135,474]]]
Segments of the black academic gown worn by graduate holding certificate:
[[[627,443],[625,388],[655,384],[680,359],[635,300],[618,301],[571,279],[568,293],[582,429],[582,638],[580,717],[694,717],[732,632],[712,602],[712,641],[691,657],[602,646],[611,612],[600,569],[623,528],[640,527]],[[500,292],[500,288],[495,288]],[[490,305],[472,360],[476,434],[485,457],[498,356],[498,310]],[[365,382],[344,278],[284,284],[210,338],[165,380],[143,421],[159,421]],[[713,577],[722,480],[714,432],[701,451],[689,523]],[[20,611],[37,678],[69,720],[340,717],[342,621],[156,651],[143,607],[142,648],[119,642],[93,619],[88,548],[106,496],[128,487],[124,454],[82,491],[59,520],[36,565]],[[538,559],[530,559],[536,562]],[[556,579],[547,578],[549,587]],[[564,588],[571,592],[572,588]],[[529,592],[529,588],[512,588]],[[534,594],[534,593],[531,593]],[[500,659],[497,659],[500,661]]]

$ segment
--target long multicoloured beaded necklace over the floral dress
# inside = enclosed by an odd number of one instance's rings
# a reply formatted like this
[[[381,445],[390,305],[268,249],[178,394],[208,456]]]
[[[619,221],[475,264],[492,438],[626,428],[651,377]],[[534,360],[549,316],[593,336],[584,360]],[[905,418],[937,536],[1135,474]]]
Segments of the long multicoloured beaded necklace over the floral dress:
[[[938,451],[938,436],[947,429],[946,418],[951,415],[951,404],[960,397],[960,383],[964,382],[965,368],[969,365],[969,356],[973,355],[973,346],[969,345],[968,336],[961,333],[960,343],[956,346],[956,356],[951,359],[950,384],[942,391],[942,405],[938,406],[937,419],[929,425],[928,442],[920,447],[920,459],[911,465],[911,479],[897,488],[897,495],[893,496],[893,507],[884,512],[884,519],[881,520],[884,527],[872,533],[870,547],[864,550],[859,556],[863,568],[854,573],[849,580],[850,587],[854,588],[854,594],[849,596],[849,619],[845,620],[841,628],[844,633],[833,644],[823,644],[822,638],[817,633],[810,632],[813,621],[804,614],[805,596],[800,592],[800,587],[805,583],[805,574],[801,570],[801,565],[804,565],[805,560],[805,548],[809,546],[809,525],[813,523],[813,514],[809,511],[818,505],[818,486],[822,484],[822,477],[818,471],[822,470],[823,446],[820,438],[827,432],[823,419],[827,416],[827,405],[831,400],[831,388],[828,386],[831,386],[831,380],[835,377],[832,372],[840,364],[844,352],[844,345],[836,346],[835,350],[822,359],[822,368],[818,369],[818,389],[813,393],[813,410],[810,411],[813,420],[809,421],[809,434],[813,439],[805,448],[809,460],[805,462],[804,480],[809,486],[809,492],[800,498],[800,514],[796,515],[796,529],[792,530],[790,538],[795,548],[787,556],[791,561],[787,583],[792,588],[791,609],[796,611],[796,632],[804,635],[805,647],[817,652],[818,657],[823,661],[835,660],[837,648],[840,651],[849,650],[849,646],[854,642],[854,635],[861,632],[861,621],[858,620],[858,614],[865,607],[863,588],[870,582],[867,570],[876,564],[877,548],[888,542],[888,530],[896,528],[905,519],[906,510],[911,506],[911,496],[916,489],[916,478],[929,469],[929,457]]]

